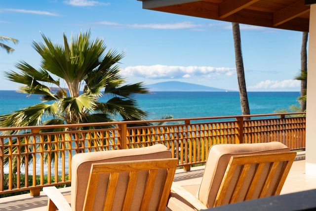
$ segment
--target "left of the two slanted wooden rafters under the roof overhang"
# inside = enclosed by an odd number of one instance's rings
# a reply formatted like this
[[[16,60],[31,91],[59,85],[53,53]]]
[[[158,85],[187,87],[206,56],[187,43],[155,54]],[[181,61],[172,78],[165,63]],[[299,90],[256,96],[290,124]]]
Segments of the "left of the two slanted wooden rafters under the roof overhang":
[[[219,4],[219,19],[224,19],[259,0],[225,0]]]

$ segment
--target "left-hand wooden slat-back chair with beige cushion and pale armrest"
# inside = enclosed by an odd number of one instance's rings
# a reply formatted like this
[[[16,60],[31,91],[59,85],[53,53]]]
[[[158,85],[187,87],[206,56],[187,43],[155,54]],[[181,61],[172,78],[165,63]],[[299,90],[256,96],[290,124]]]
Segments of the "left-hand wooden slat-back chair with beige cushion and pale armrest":
[[[54,186],[45,187],[47,211],[164,211],[179,161],[159,144],[92,155],[82,153],[74,156],[72,162],[71,206]],[[86,171],[88,167],[90,171]]]

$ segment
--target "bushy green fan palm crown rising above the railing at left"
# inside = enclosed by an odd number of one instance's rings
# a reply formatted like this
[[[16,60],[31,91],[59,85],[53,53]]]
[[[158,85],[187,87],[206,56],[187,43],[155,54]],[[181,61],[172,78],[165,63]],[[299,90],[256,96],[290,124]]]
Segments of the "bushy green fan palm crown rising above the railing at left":
[[[42,35],[33,42],[41,56],[40,68],[25,61],[20,72],[5,73],[10,81],[23,84],[18,91],[41,95],[42,102],[0,116],[0,127],[79,124],[120,120],[142,120],[147,113],[137,108],[136,93],[148,93],[142,83],[125,84],[117,63],[123,53],[105,52],[103,40],[90,39],[90,32],[72,37],[64,34],[63,45]],[[63,85],[64,86],[63,86]],[[80,91],[82,90],[82,91]],[[101,102],[108,96],[106,102]],[[102,100],[101,100],[102,99]],[[47,118],[48,117],[48,118]]]

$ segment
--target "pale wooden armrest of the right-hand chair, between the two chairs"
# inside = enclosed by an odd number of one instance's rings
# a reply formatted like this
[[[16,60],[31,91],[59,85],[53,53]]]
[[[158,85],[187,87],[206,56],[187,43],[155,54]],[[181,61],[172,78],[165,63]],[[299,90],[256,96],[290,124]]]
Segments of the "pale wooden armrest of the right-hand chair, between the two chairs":
[[[175,182],[172,182],[171,191],[178,194],[180,197],[182,197],[184,200],[186,200],[188,203],[190,203],[197,210],[208,209],[203,203],[198,201],[198,199],[196,197],[194,197],[189,191],[187,191],[186,189],[184,189],[180,185],[176,184]]]

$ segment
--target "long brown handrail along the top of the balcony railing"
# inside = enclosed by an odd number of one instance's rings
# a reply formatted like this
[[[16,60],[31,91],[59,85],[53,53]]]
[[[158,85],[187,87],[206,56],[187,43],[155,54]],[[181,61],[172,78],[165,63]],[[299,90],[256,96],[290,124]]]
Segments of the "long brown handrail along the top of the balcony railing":
[[[235,116],[218,116],[218,117],[196,117],[196,118],[179,118],[179,119],[162,119],[162,120],[101,122],[101,123],[82,123],[82,124],[49,125],[49,126],[0,127],[0,131],[24,130],[24,129],[45,129],[45,128],[60,128],[60,127],[89,127],[89,126],[122,125],[122,124],[158,123],[158,122],[179,122],[179,121],[188,121],[188,120],[196,121],[196,120],[246,118],[246,117],[285,116],[285,115],[299,115],[299,114],[306,114],[306,112],[252,114],[252,115],[235,115]]]

